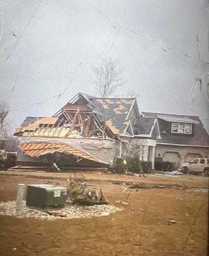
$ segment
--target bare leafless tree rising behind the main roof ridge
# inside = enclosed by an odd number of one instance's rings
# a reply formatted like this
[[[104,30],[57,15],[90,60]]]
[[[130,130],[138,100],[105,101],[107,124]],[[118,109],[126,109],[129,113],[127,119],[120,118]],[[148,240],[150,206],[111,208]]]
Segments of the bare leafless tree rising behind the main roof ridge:
[[[101,65],[94,68],[94,84],[96,90],[102,98],[110,97],[122,86],[121,70],[113,61],[104,60]]]

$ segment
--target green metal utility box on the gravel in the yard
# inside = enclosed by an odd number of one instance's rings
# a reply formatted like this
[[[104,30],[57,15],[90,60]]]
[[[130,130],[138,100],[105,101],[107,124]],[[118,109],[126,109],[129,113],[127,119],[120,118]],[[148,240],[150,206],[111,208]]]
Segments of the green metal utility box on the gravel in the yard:
[[[35,207],[62,207],[67,198],[67,189],[51,184],[27,186],[26,204]]]

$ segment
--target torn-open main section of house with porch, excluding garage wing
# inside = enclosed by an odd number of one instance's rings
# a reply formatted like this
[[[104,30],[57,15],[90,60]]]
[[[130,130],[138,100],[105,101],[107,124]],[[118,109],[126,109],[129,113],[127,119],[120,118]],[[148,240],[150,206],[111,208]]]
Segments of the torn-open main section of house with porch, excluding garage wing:
[[[140,118],[136,99],[99,99],[78,93],[54,116],[27,117],[15,131],[18,164],[43,164],[58,152],[69,166],[104,166],[127,154],[127,144],[154,164],[155,140],[136,138]],[[63,161],[62,161],[63,162]]]

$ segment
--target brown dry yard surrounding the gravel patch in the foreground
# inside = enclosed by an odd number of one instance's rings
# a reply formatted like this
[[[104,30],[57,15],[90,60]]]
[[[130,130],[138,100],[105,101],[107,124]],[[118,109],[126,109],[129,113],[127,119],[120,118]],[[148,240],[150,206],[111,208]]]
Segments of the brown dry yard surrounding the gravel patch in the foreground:
[[[66,186],[66,179],[73,175],[1,173],[0,202],[15,200],[18,183],[41,184],[53,180]],[[83,176],[89,184],[103,189],[110,204],[124,210],[110,216],[71,220],[0,216],[0,255],[207,255],[208,178],[104,173],[83,173]],[[153,187],[123,192],[131,182]]]

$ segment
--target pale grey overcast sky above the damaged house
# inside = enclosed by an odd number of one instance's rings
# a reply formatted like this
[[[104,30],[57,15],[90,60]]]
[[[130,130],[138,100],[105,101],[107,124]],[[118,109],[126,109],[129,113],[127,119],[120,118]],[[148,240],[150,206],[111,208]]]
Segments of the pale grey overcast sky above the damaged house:
[[[11,129],[78,92],[97,95],[92,68],[103,59],[123,70],[115,97],[199,115],[208,129],[208,17],[208,0],[2,0],[0,95]]]

